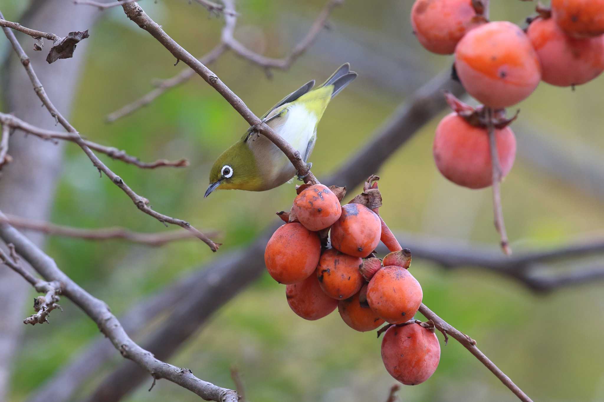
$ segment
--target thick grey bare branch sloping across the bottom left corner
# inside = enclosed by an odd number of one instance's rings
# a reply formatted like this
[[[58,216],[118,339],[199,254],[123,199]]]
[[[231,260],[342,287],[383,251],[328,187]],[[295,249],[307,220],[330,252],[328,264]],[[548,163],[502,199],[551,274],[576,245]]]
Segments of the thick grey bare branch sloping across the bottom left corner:
[[[62,284],[63,295],[97,323],[100,331],[111,340],[121,355],[144,368],[153,378],[165,378],[206,400],[237,402],[237,392],[200,380],[190,370],[162,362],[152,353],[135,344],[104,301],[93,297],[71,280],[57,267],[51,257],[43,253],[18,230],[8,224],[0,224],[0,238],[6,243],[13,243],[19,255],[27,260],[45,280]]]

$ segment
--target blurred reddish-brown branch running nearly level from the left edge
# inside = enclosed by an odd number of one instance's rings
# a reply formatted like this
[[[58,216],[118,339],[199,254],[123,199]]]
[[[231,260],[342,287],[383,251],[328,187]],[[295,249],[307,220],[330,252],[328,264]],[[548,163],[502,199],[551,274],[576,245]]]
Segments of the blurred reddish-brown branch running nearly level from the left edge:
[[[112,227],[100,229],[83,229],[74,228],[63,225],[55,225],[49,222],[36,221],[35,219],[21,218],[19,216],[8,215],[0,216],[0,222],[7,223],[11,226],[35,230],[45,234],[54,234],[57,236],[78,237],[88,240],[111,240],[124,239],[133,243],[141,243],[152,247],[159,247],[165,243],[175,240],[191,240],[196,237],[189,231],[172,230],[166,233],[140,233],[126,228]],[[217,233],[208,233],[210,236],[216,236]]]

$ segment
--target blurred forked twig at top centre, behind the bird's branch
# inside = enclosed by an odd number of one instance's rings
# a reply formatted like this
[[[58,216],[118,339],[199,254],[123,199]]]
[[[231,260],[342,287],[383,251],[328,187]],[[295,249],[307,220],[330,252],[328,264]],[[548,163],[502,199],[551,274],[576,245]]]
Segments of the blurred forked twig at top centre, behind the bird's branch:
[[[321,10],[319,15],[316,17],[315,22],[313,22],[310,30],[306,34],[306,36],[294,46],[292,51],[287,57],[284,58],[270,58],[265,57],[263,55],[252,52],[248,48],[242,45],[242,43],[238,42],[234,39],[234,31],[237,23],[237,13],[233,11],[233,13],[226,14],[225,16],[225,26],[222,28],[221,42],[216,46],[211,52],[206,54],[204,57],[199,58],[199,61],[202,64],[210,64],[212,61],[216,60],[226,49],[231,49],[236,52],[241,57],[252,61],[253,63],[258,64],[259,66],[270,69],[288,69],[295,60],[297,60],[300,55],[302,55],[306,49],[310,48],[310,46],[315,42],[316,37],[321,32],[323,27],[326,24],[327,19],[332,13],[333,8],[337,5],[342,4],[344,0],[330,0],[327,2],[326,6]],[[232,1],[228,1],[226,5],[229,8],[233,8],[234,3]],[[145,105],[148,105],[154,99],[156,99],[159,95],[162,95],[168,89],[175,87],[179,84],[184,83],[189,78],[195,75],[195,71],[191,69],[186,69],[179,74],[175,75],[175,77],[169,78],[168,80],[160,81],[158,87],[153,89],[151,92],[137,99],[136,101],[125,105],[119,110],[114,111],[113,113],[107,116],[108,122],[114,122],[119,118],[122,118],[126,115],[129,115],[133,111],[138,110]]]

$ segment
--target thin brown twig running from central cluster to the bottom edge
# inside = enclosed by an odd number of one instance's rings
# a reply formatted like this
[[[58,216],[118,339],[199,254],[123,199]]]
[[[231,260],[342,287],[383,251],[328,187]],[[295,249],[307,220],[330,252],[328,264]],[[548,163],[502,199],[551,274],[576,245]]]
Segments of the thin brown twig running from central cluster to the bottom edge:
[[[441,331],[443,334],[452,336],[452,338],[455,338],[455,340],[463,345],[464,348],[469,350],[470,353],[474,354],[474,356],[480,360],[480,362],[483,363],[486,368],[495,374],[495,376],[499,378],[500,381],[516,395],[516,397],[519,398],[519,400],[523,402],[533,402],[531,398],[522,392],[522,389],[518,388],[518,386],[513,383],[512,380],[510,380],[510,377],[501,371],[493,362],[489,360],[488,357],[484,355],[484,353],[480,351],[480,349],[476,347],[476,341],[474,341],[474,339],[456,330],[444,319],[440,318],[434,312],[432,312],[432,310],[428,309],[428,307],[426,307],[426,305],[423,303],[419,307],[419,312],[422,313],[426,318],[431,319],[439,331]]]

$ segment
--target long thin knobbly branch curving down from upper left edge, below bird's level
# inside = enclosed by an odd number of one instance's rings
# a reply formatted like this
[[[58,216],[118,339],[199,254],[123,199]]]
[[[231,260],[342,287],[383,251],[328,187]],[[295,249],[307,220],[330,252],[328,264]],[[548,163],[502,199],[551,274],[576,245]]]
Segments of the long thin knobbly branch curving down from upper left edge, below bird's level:
[[[127,6],[124,5],[123,7],[127,7]],[[0,13],[0,18],[4,18],[2,16],[2,13]],[[27,54],[25,54],[25,52],[23,51],[23,48],[21,47],[21,45],[19,44],[17,39],[14,37],[13,32],[9,28],[2,28],[2,29],[4,30],[4,33],[7,36],[11,45],[13,45],[13,49],[19,56],[19,59],[21,60],[21,63],[23,64],[25,71],[27,71],[27,74],[30,77],[30,81],[33,84],[34,91],[36,92],[36,94],[38,95],[38,97],[40,98],[42,103],[46,106],[48,111],[50,111],[51,116],[53,116],[56,119],[56,121],[59,122],[59,124],[65,128],[65,130],[67,130],[70,134],[72,134],[75,137],[74,142],[76,142],[77,145],[79,145],[80,148],[82,148],[82,150],[85,152],[85,154],[88,155],[88,158],[92,161],[92,165],[94,165],[95,168],[98,169],[98,171],[106,174],[107,177],[109,177],[109,179],[111,179],[111,181],[116,186],[120,187],[120,189],[123,190],[123,192],[126,193],[126,195],[128,195],[130,197],[130,199],[132,199],[132,202],[138,207],[138,209],[140,209],[147,215],[153,216],[153,218],[158,219],[159,222],[162,222],[164,224],[169,223],[169,224],[173,224],[173,225],[178,225],[182,228],[185,228],[186,230],[190,231],[191,233],[194,233],[196,237],[198,237],[204,243],[206,243],[210,247],[210,250],[212,250],[212,251],[218,250],[218,247],[220,246],[218,243],[214,243],[212,240],[210,240],[209,237],[205,236],[205,234],[201,233],[201,231],[199,231],[196,228],[194,228],[193,226],[191,226],[191,224],[189,224],[188,222],[183,221],[182,219],[176,219],[176,218],[172,218],[167,215],[163,215],[162,213],[155,212],[155,210],[151,209],[149,207],[149,200],[147,198],[144,198],[143,196],[140,196],[137,193],[135,193],[124,182],[124,180],[121,177],[119,177],[117,174],[115,174],[113,171],[111,171],[111,169],[109,169],[106,165],[104,165],[103,162],[101,162],[100,159],[98,159],[97,155],[95,155],[94,152],[92,152],[92,150],[88,147],[88,145],[86,145],[85,140],[83,140],[82,137],[80,137],[80,134],[76,131],[76,129],[71,124],[69,124],[67,119],[65,119],[63,117],[63,115],[61,115],[60,111],[57,110],[56,107],[54,107],[53,103],[50,101],[50,98],[48,98],[47,93],[45,92],[44,88],[42,87],[42,83],[40,83],[40,80],[38,80],[36,73],[34,72],[32,66],[31,66],[30,59],[27,57]],[[159,28],[159,29],[161,29],[161,28]],[[237,99],[239,99],[239,98],[237,98]],[[277,135],[277,134],[275,134],[275,135]],[[301,159],[300,159],[300,161],[301,161]]]

